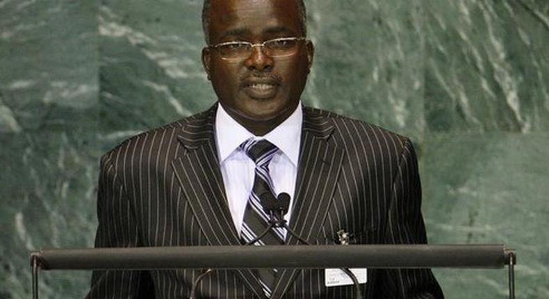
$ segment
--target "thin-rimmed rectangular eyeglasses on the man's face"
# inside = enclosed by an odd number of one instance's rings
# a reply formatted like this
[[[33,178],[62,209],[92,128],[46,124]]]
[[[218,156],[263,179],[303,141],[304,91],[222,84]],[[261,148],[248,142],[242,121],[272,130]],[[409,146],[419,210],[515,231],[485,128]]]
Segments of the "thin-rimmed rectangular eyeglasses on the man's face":
[[[262,47],[265,54],[271,57],[284,57],[295,54],[297,45],[305,38],[275,38],[265,40],[259,44],[251,42],[222,42],[218,45],[208,46],[216,49],[224,60],[244,60],[252,54],[254,47]]]

